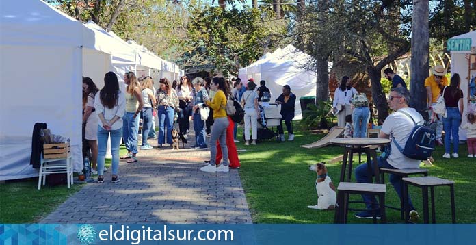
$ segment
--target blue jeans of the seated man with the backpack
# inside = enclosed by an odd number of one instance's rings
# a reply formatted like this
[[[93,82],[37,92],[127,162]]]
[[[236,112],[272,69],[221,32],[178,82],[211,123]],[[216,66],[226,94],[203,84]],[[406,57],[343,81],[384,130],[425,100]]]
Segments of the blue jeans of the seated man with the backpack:
[[[378,166],[380,168],[393,168],[395,169],[393,166],[391,166],[390,164],[388,164],[388,162],[386,161],[386,159],[382,159],[382,157],[378,157],[377,158],[377,162],[378,162]],[[373,162],[372,162],[373,164]],[[372,166],[372,169],[373,169],[373,166]],[[374,175],[373,171],[372,171],[372,176]],[[358,183],[370,183],[369,182],[369,171],[367,169],[367,164],[360,164],[360,166],[358,166],[356,168],[356,180]],[[403,190],[402,190],[402,180],[401,180],[401,177],[398,176],[398,175],[390,175],[390,183],[393,185],[393,189],[395,189],[395,191],[397,192],[400,200],[403,198]],[[372,196],[372,195],[362,195],[362,198],[364,199],[364,202],[365,202],[365,206],[367,206],[367,209],[375,209],[378,207],[377,205],[377,199],[375,199],[375,196]],[[412,204],[412,199],[410,198],[410,195],[408,195],[408,205],[410,207],[410,210],[413,210],[415,209],[413,207],[413,204]]]

